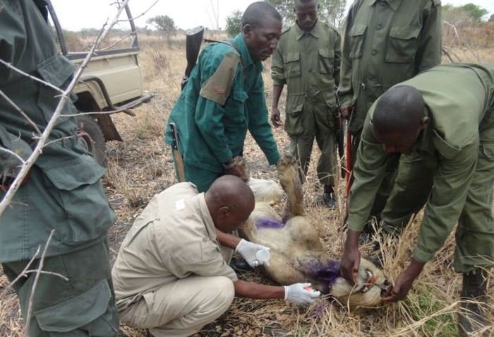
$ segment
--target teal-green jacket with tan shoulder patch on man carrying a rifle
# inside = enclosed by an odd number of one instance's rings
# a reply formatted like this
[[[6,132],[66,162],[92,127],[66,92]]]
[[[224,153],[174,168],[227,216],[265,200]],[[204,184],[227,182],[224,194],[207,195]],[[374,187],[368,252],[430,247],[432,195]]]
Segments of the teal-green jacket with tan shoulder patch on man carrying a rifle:
[[[267,122],[263,65],[253,61],[241,34],[231,43],[215,43],[201,52],[186,87],[171,110],[166,141],[171,144],[169,123],[179,130],[183,160],[212,172],[241,155],[247,130],[270,165],[279,159],[271,126]]]

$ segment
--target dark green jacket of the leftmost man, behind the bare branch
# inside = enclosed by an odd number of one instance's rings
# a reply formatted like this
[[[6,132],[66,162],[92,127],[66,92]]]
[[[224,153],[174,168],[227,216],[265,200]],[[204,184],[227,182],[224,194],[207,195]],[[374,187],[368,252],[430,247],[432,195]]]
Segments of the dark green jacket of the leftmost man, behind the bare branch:
[[[35,37],[38,37],[35,40]],[[0,5],[0,59],[32,76],[64,88],[75,66],[57,54],[52,31],[32,0],[3,0]],[[0,90],[43,130],[59,102],[59,93],[0,64]],[[74,114],[69,102],[64,114]],[[18,151],[36,145],[33,129],[0,97],[0,146]],[[30,259],[55,229],[48,256],[71,252],[106,236],[114,213],[100,185],[104,169],[87,154],[73,117],[61,117],[31,170],[0,217],[0,261]],[[13,139],[18,139],[13,143]],[[20,144],[22,143],[22,145]],[[25,151],[23,150],[23,153]],[[0,153],[0,175],[19,162]],[[0,191],[0,199],[4,191]]]

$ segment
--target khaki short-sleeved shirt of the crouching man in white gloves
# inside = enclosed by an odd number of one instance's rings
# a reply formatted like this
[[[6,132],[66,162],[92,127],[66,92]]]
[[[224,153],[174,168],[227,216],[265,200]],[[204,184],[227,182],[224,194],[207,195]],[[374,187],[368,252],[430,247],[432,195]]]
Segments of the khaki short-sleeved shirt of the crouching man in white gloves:
[[[220,252],[204,194],[183,182],[154,196],[123,240],[112,270],[117,307],[191,275],[237,280]]]

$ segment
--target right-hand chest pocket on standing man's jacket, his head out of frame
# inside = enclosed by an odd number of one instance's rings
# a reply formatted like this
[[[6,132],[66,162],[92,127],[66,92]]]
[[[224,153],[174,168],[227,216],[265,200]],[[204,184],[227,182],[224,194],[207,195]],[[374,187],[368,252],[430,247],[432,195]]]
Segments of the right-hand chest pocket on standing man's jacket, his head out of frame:
[[[418,48],[421,27],[392,27],[386,49],[387,62],[412,63]]]

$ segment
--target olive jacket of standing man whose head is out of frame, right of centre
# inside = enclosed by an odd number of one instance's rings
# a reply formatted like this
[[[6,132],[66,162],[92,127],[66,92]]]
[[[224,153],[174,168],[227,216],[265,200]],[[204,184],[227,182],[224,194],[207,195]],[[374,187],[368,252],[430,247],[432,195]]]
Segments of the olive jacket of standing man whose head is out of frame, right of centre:
[[[356,0],[344,30],[342,105],[355,104],[350,130],[392,85],[441,62],[440,0]]]

